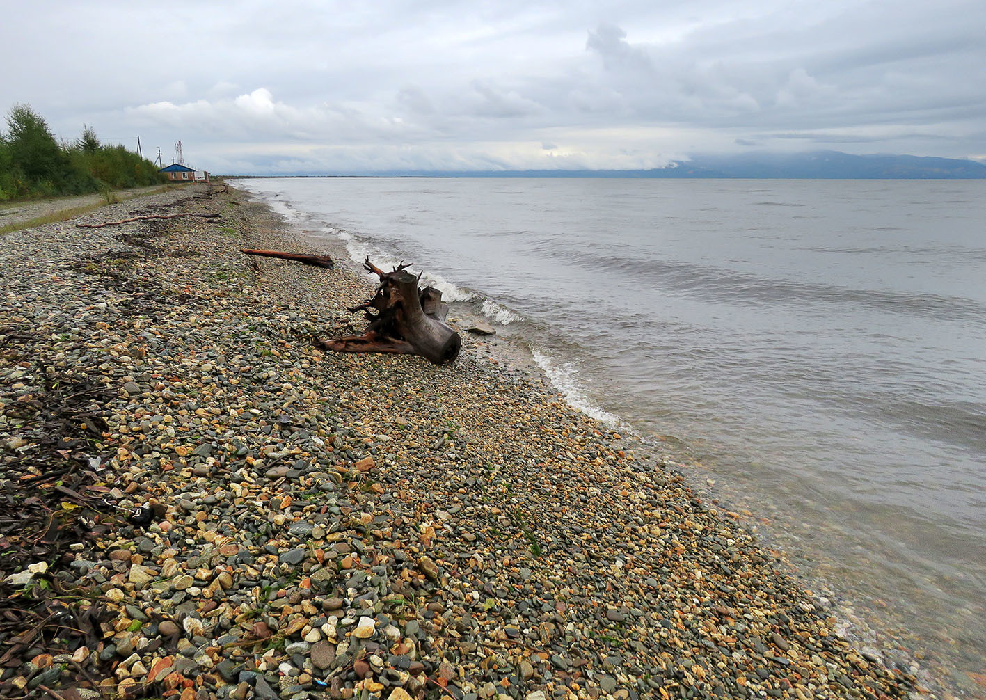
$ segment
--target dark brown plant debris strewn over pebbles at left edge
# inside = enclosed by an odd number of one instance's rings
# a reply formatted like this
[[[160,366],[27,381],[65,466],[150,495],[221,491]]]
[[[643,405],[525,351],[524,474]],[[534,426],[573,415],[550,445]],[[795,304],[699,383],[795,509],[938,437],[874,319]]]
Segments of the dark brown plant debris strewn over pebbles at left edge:
[[[67,567],[72,549],[85,551],[117,519],[99,473],[106,387],[31,357],[30,331],[0,329],[0,339],[4,362],[30,378],[28,388],[0,388],[3,415],[19,426],[19,441],[0,449],[0,666],[16,667],[29,654],[99,642],[106,607],[70,585]],[[27,585],[9,579],[40,562],[46,571]]]

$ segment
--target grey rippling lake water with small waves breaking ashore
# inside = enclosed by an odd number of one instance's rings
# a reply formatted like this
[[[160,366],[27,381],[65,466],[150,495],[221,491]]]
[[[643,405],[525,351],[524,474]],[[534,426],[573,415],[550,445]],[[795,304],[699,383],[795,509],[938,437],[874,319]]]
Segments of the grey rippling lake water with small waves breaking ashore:
[[[752,514],[849,634],[983,693],[986,181],[237,185],[354,259],[418,263]]]

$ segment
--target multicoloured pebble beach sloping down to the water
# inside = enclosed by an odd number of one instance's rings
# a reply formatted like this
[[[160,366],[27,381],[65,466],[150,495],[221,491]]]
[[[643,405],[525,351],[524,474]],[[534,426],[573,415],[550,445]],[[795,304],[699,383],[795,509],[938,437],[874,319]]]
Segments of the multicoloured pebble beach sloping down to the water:
[[[740,515],[483,339],[443,367],[319,350],[371,281],[207,187],[0,237],[0,696],[921,694]],[[77,226],[179,212],[220,216]]]

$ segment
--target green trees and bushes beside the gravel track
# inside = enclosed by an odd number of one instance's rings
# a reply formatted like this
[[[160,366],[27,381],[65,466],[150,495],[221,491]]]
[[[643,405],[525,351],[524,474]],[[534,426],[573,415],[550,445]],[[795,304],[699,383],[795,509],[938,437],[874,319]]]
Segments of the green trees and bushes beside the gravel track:
[[[106,192],[165,182],[147,159],[122,146],[105,146],[84,126],[74,142],[55,139],[29,105],[14,105],[0,133],[0,201]]]

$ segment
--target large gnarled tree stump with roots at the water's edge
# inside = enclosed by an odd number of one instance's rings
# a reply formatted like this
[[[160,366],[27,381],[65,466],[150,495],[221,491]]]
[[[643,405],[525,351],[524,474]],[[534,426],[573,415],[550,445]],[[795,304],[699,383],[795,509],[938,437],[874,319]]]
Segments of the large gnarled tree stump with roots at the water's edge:
[[[364,312],[370,325],[363,335],[334,338],[320,345],[335,352],[420,355],[436,365],[458,357],[461,338],[445,322],[449,305],[442,302],[440,291],[434,287],[419,290],[420,275],[408,272],[405,264],[384,272],[367,256],[363,266],[380,278],[380,285],[373,299],[349,311]]]

